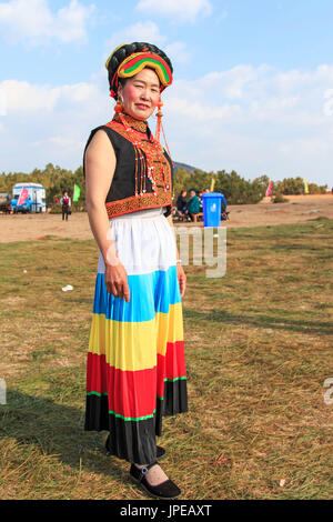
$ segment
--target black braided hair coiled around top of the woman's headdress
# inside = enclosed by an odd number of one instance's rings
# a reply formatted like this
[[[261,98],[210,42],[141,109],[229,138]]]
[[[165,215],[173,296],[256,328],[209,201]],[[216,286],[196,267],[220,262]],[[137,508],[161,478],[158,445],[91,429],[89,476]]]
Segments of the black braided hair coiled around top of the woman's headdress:
[[[110,90],[114,92],[113,98],[115,100],[118,100],[118,92],[117,92],[118,86],[115,84],[115,81],[112,81],[112,80],[113,80],[117,69],[119,68],[120,63],[130,54],[133,54],[133,52],[142,52],[143,50],[153,52],[154,54],[158,54],[159,57],[161,57],[170,67],[171,72],[173,72],[173,68],[172,68],[172,63],[170,59],[167,57],[165,52],[163,52],[157,46],[153,46],[152,43],[147,43],[147,42],[125,43],[124,46],[121,46],[119,49],[117,49],[117,51],[112,54],[112,58],[111,60],[109,60],[109,63],[108,63],[109,86],[110,86]],[[127,79],[119,78],[119,81],[122,84],[122,87],[124,87]]]

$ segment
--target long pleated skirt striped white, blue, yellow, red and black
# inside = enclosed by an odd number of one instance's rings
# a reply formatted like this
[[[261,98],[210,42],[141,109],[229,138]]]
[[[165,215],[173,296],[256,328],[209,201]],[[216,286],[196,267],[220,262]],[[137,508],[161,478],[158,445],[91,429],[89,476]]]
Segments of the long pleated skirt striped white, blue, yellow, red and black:
[[[108,292],[100,252],[87,361],[84,430],[110,431],[109,451],[157,456],[162,416],[188,411],[175,240],[163,209],[110,219],[130,302]]]

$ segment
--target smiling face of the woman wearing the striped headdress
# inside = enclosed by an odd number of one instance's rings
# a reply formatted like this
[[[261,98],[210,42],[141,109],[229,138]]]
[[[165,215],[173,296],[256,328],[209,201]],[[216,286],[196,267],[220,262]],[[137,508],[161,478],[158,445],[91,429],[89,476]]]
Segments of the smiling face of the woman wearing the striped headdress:
[[[160,100],[160,81],[152,69],[142,69],[128,78],[124,87],[119,86],[118,94],[123,101],[124,112],[137,120],[147,120]]]

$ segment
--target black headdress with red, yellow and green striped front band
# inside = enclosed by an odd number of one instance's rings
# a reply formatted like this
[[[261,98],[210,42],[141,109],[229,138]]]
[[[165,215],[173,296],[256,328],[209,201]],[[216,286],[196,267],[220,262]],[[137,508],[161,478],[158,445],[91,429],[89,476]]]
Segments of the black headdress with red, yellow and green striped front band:
[[[119,78],[131,78],[145,67],[153,69],[161,83],[161,91],[172,83],[172,64],[167,54],[147,42],[123,43],[105,62],[111,96],[117,99]]]

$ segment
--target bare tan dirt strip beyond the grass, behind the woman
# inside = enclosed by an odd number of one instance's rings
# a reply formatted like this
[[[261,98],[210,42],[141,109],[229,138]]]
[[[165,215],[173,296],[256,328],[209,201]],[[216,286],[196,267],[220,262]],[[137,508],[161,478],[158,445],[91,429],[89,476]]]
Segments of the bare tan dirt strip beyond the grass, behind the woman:
[[[333,195],[287,195],[287,203],[229,205],[230,220],[222,225],[263,227],[280,223],[300,223],[325,217],[333,219]],[[183,223],[181,223],[183,224]],[[202,222],[198,223],[202,227]],[[198,225],[196,224],[196,225]],[[175,223],[178,225],[178,223]],[[189,223],[191,227],[192,224]],[[61,214],[0,214],[0,242],[32,241],[52,234],[61,238],[93,239],[87,212],[73,213],[68,221]]]

